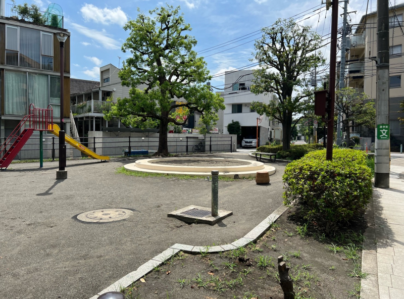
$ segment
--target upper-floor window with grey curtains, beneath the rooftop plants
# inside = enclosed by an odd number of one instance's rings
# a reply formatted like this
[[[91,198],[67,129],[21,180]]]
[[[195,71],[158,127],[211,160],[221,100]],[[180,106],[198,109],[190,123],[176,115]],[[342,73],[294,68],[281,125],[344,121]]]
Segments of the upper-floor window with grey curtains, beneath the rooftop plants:
[[[52,71],[53,47],[53,33],[6,26],[7,65]]]

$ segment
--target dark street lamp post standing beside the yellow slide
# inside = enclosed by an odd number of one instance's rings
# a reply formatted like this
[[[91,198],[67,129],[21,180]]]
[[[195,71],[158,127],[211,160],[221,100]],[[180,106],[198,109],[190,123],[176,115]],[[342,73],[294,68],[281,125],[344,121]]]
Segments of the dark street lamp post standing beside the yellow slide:
[[[67,33],[56,33],[60,42],[60,131],[59,131],[59,170],[56,172],[56,179],[67,179],[66,168],[66,143],[65,143],[65,123],[64,116],[64,48],[65,41],[68,37]]]

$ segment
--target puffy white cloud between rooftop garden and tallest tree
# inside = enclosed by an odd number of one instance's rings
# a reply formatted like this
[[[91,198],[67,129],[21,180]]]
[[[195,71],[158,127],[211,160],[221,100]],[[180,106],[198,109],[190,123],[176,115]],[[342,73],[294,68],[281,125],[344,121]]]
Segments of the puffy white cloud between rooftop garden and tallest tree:
[[[120,26],[123,26],[128,21],[127,15],[119,6],[113,9],[102,9],[92,4],[85,3],[84,6],[80,9],[80,12],[84,18],[84,21],[86,22],[93,21],[95,23],[102,23],[106,25],[118,24]]]

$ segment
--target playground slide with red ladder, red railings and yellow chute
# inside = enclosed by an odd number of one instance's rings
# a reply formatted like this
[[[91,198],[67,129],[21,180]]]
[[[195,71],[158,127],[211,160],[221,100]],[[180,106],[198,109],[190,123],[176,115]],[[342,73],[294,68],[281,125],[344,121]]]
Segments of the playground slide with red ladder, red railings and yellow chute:
[[[53,123],[53,109],[51,105],[47,109],[35,108],[33,104],[29,106],[29,114],[24,116],[10,136],[0,146],[0,169],[7,169],[34,131],[39,131],[40,133],[40,160],[42,161],[42,132],[48,131],[59,137],[60,131],[59,126]],[[97,155],[69,135],[65,135],[65,141],[88,157],[98,160],[110,160],[110,157]]]

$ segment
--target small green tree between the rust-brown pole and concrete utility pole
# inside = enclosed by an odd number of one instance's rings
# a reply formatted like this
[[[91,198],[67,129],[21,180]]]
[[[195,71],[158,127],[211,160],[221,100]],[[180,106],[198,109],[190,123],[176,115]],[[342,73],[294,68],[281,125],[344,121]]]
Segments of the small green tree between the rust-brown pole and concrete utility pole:
[[[341,123],[345,128],[345,138],[350,139],[350,129],[365,126],[374,129],[376,123],[375,102],[364,103],[369,96],[354,88],[345,87],[338,90],[335,97],[335,109],[342,115]]]

